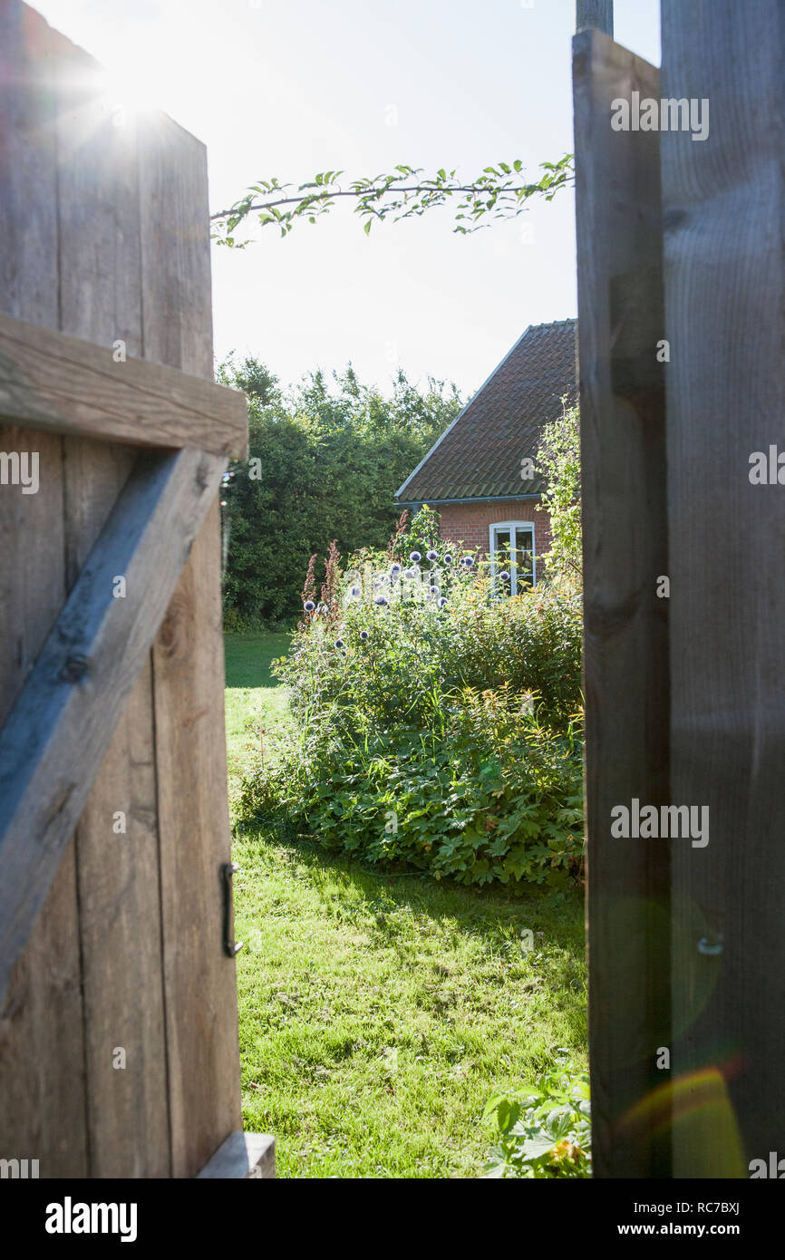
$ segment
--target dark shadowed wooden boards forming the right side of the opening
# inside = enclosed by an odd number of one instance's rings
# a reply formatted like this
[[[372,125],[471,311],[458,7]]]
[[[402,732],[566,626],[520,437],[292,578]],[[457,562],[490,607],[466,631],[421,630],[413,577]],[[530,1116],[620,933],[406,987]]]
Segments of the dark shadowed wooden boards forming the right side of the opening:
[[[662,74],[573,45],[595,1173],[776,1176],[785,6],[662,11]]]

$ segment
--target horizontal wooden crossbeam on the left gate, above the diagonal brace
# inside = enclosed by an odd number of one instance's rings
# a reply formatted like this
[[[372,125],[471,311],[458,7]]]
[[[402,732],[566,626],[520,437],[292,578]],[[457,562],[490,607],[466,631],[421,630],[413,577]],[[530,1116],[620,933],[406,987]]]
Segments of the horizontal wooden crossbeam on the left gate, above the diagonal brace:
[[[0,421],[130,446],[248,454],[246,396],[0,314]]]

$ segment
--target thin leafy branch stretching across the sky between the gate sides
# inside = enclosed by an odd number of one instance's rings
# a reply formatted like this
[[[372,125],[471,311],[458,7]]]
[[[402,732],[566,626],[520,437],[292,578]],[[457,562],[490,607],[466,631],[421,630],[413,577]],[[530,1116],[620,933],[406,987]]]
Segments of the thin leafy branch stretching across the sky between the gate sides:
[[[277,179],[260,180],[228,209],[210,215],[212,236],[219,244],[242,249],[249,238],[238,239],[237,229],[247,228],[255,215],[261,227],[276,226],[285,237],[295,223],[315,223],[341,199],[347,199],[363,220],[365,233],[387,218],[397,223],[455,202],[452,231],[466,234],[490,227],[494,219],[517,218],[528,209],[532,198],[553,200],[559,189],[573,181],[572,154],[564,154],[556,163],[541,163],[539,170],[539,180],[524,181],[523,163],[517,158],[512,164],[500,161],[485,166],[469,183],[460,179],[456,170],[441,168],[435,175],[426,175],[425,168],[403,164],[389,174],[353,179],[347,184],[341,183],[343,170],[321,171],[296,188]]]

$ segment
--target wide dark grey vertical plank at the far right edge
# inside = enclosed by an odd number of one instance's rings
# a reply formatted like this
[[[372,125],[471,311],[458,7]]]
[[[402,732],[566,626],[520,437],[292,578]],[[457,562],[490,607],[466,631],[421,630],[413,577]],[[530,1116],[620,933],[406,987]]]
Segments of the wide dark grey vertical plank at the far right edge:
[[[785,446],[784,66],[781,0],[664,0],[663,96],[711,105],[662,136],[672,790],[711,820],[673,856],[677,1177],[784,1154],[785,486],[750,481]]]

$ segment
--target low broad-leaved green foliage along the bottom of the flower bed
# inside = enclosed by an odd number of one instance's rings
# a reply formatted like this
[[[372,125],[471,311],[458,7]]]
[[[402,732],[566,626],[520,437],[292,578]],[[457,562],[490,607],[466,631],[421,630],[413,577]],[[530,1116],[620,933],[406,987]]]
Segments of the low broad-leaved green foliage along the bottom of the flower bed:
[[[444,732],[396,727],[353,742],[318,726],[287,751],[246,780],[241,813],[270,816],[277,790],[290,823],[326,848],[465,885],[558,887],[580,867],[577,742],[493,692],[456,697]]]

